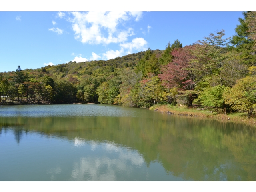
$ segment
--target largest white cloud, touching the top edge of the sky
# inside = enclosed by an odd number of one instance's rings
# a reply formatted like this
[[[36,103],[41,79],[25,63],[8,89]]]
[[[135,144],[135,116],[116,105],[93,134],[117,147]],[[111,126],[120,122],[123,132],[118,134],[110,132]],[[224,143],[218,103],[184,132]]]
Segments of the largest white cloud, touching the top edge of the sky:
[[[118,29],[119,24],[135,18],[139,20],[142,12],[72,12],[72,28],[75,39],[89,44],[110,44],[125,42],[134,35],[133,29]]]

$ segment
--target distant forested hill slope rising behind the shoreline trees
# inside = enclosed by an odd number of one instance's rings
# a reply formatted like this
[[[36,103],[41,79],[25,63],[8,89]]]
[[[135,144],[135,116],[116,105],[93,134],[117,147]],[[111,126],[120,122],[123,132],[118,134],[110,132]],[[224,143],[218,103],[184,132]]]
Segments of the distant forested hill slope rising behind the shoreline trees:
[[[68,62],[53,66],[45,66],[39,69],[25,69],[24,72],[32,74],[33,76],[51,76],[54,79],[58,78],[77,78],[88,77],[92,74],[106,74],[113,72],[116,68],[134,68],[139,60],[144,56],[146,51],[129,54],[122,57],[117,57],[110,60],[86,61],[86,62]],[[153,50],[157,57],[161,56],[162,50]],[[21,66],[22,67],[22,66]],[[13,74],[14,71],[8,72]],[[1,73],[0,73],[1,74]],[[3,74],[3,73],[2,73]],[[72,81],[72,80],[71,80]]]

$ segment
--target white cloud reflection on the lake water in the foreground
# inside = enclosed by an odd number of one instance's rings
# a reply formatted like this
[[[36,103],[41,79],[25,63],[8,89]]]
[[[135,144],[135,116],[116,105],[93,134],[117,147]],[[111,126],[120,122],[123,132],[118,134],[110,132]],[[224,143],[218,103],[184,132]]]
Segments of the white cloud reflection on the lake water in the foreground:
[[[74,140],[75,146],[86,145],[85,140]],[[71,180],[120,180],[120,175],[126,178],[132,176],[134,169],[145,164],[144,158],[135,150],[119,147],[114,143],[91,143],[91,150],[97,149],[99,156],[82,157],[74,162]]]

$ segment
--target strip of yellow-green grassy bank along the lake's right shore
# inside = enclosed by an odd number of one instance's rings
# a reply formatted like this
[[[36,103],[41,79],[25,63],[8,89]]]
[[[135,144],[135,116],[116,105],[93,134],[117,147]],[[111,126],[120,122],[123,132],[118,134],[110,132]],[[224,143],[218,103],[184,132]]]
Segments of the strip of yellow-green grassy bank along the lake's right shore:
[[[230,114],[217,114],[217,112],[212,111],[212,113],[207,112],[210,110],[196,110],[196,108],[188,108],[187,106],[172,106],[172,105],[159,105],[156,104],[150,107],[150,110],[157,110],[156,112],[172,112],[174,115],[182,116],[193,116],[202,118],[211,118],[219,120],[230,120],[235,122],[244,122],[256,125],[256,118],[248,118],[246,113],[230,113]]]

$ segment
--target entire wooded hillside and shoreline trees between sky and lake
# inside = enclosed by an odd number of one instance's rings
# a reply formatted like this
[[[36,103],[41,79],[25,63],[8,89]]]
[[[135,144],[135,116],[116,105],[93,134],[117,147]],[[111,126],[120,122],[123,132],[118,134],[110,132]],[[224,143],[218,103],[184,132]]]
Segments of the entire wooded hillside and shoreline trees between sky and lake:
[[[232,38],[224,30],[193,45],[179,40],[166,49],[108,61],[69,62],[0,74],[1,102],[93,102],[148,108],[195,104],[218,113],[256,107],[256,12],[244,12]]]

